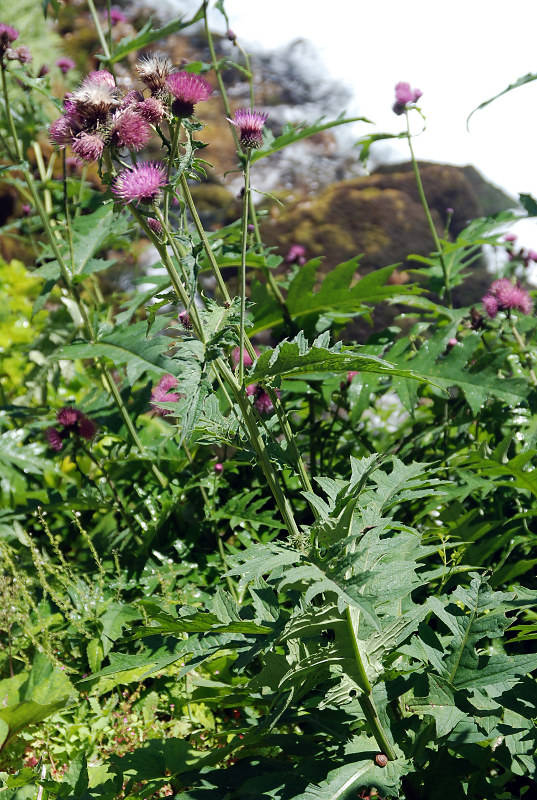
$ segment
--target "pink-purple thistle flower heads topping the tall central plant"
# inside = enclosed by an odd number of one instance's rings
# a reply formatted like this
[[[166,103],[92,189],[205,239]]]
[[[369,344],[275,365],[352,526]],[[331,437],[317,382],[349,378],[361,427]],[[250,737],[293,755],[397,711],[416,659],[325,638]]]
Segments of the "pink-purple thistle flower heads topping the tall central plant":
[[[110,148],[112,155],[121,149],[138,152],[149,143],[155,126],[163,120],[191,117],[195,105],[207,100],[213,91],[203,76],[177,71],[166,57],[146,57],[134,69],[145,89],[126,94],[110,72],[90,72],[74,92],[66,95],[64,113],[50,126],[52,142],[69,146],[80,161],[88,164],[98,162],[105,148]],[[255,109],[238,109],[229,122],[238,128],[241,145],[255,148],[263,142],[266,118]],[[152,203],[166,185],[168,174],[160,162],[135,164],[116,177],[112,191],[124,203]]]

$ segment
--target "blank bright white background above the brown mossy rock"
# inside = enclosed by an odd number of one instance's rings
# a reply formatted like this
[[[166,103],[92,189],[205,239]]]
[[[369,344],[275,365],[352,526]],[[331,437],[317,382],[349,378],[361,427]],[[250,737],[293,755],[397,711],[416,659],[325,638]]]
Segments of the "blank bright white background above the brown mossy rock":
[[[160,3],[176,13],[189,8],[185,0]],[[402,130],[391,111],[394,85],[419,87],[427,129],[415,141],[418,158],[474,164],[514,197],[537,196],[537,81],[477,112],[466,129],[476,106],[537,72],[536,0],[225,0],[225,7],[245,44],[270,49],[310,39],[327,72],[353,90],[347,111],[376,130]],[[223,31],[221,15],[212,14]],[[408,157],[404,142],[394,146]],[[535,246],[537,224],[528,233]]]

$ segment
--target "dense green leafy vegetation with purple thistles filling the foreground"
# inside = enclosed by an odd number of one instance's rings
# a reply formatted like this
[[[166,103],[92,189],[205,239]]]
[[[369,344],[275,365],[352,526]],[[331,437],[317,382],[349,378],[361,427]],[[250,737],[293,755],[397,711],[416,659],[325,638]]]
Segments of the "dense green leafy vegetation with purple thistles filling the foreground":
[[[297,242],[283,270],[256,164],[350,120],[271,133],[207,2],[119,43],[87,6],[99,68],[61,96],[0,24],[0,798],[533,796],[537,256],[505,232],[535,201],[438,231],[399,83],[430,256],[323,276]],[[152,51],[203,23],[210,63]],[[215,93],[243,210],[207,230]],[[126,291],[141,242],[160,271]],[[454,307],[483,245],[501,273]]]

